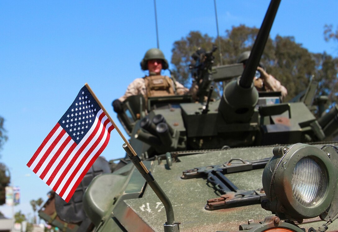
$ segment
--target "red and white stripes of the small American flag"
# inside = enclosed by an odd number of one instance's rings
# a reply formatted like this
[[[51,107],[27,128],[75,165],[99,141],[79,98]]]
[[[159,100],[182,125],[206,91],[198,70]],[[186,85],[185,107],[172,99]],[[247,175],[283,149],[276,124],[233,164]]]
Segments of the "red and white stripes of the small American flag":
[[[101,109],[93,126],[76,144],[57,123],[27,166],[66,202],[107,146],[114,126]]]

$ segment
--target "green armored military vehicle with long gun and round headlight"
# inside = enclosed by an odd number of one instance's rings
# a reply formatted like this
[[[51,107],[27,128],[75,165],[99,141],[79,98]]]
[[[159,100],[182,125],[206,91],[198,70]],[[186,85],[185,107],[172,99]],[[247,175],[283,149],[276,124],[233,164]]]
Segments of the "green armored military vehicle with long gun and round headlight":
[[[123,102],[126,158],[98,159],[71,201],[51,197],[40,217],[63,231],[337,230],[338,143],[328,141],[338,107],[316,119],[316,83],[288,103],[252,84],[279,2],[271,1],[244,69],[213,68],[216,48],[196,52],[200,102]],[[213,99],[212,83],[238,76]]]

